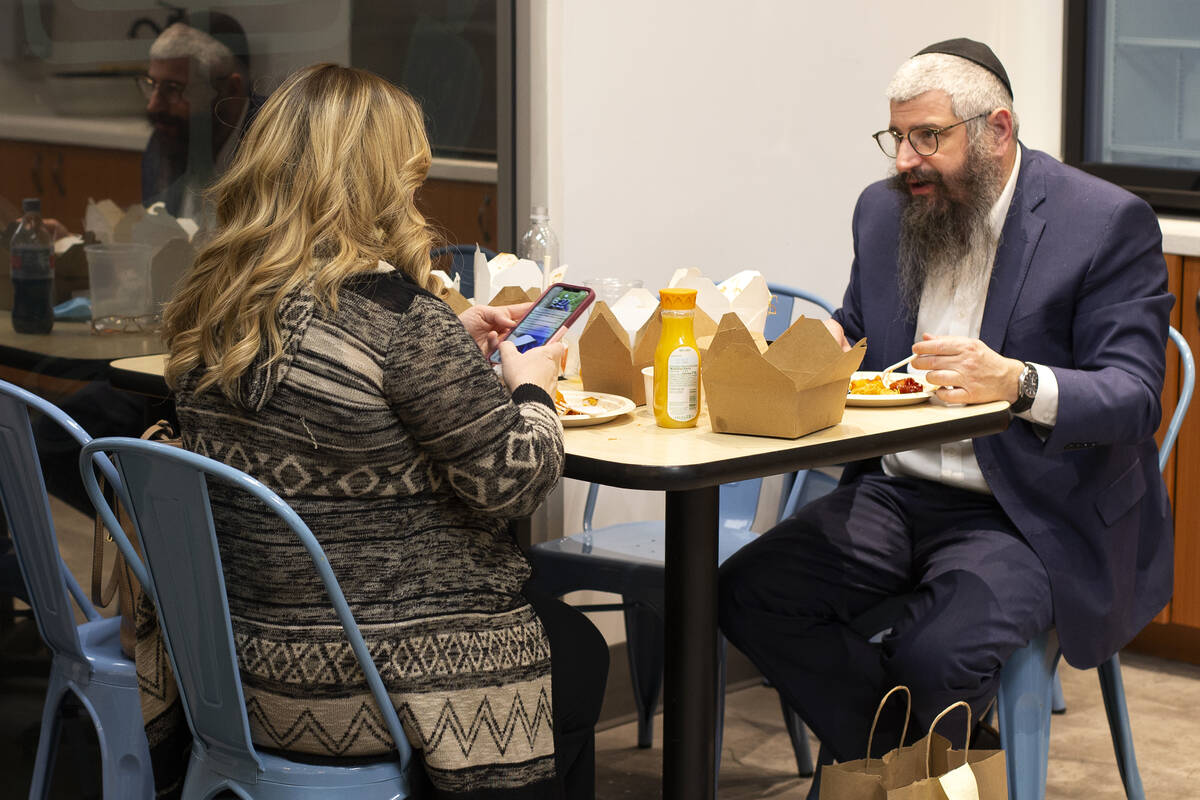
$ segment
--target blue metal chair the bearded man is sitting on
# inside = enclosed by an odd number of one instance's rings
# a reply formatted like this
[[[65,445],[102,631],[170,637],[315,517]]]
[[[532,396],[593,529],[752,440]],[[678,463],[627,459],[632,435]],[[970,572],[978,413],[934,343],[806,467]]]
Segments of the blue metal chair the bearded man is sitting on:
[[[1183,335],[1171,327],[1170,338],[1180,351],[1180,397],[1166,435],[1158,450],[1159,468],[1166,467],[1178,437],[1195,386],[1195,361]],[[1058,634],[1051,628],[1018,650],[1000,673],[997,711],[1000,738],[1008,757],[1008,796],[1012,800],[1040,800],[1045,796],[1046,764],[1050,758],[1050,710],[1058,664]],[[1114,655],[1100,664],[1100,692],[1112,733],[1112,750],[1126,796],[1142,800],[1141,776],[1129,730],[1129,711],[1121,680],[1121,661]]]

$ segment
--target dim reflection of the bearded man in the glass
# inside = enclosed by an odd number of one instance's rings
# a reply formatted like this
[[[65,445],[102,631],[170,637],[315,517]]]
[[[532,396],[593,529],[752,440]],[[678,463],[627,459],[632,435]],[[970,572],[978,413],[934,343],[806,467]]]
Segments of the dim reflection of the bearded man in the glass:
[[[196,13],[150,47],[139,79],[154,133],[142,160],[142,201],[202,222],[204,188],[228,167],[262,98],[250,94],[246,34],[233,18]]]

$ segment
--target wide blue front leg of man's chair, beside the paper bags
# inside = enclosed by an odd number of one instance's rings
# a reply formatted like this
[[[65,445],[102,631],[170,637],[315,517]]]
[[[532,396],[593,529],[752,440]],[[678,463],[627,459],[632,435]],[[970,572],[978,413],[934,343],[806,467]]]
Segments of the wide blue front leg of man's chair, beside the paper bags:
[[[1036,637],[1000,673],[996,704],[1000,739],[1008,762],[1009,800],[1043,800],[1050,759],[1050,697],[1058,636]]]

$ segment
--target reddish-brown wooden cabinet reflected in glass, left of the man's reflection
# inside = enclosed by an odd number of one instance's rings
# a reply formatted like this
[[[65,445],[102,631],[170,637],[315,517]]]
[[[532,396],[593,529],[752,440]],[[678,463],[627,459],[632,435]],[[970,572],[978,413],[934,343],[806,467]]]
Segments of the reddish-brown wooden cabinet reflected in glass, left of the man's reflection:
[[[142,200],[142,154],[134,150],[0,139],[0,215],[20,216],[26,197],[42,199],[42,215],[83,230],[88,198],[120,206]]]

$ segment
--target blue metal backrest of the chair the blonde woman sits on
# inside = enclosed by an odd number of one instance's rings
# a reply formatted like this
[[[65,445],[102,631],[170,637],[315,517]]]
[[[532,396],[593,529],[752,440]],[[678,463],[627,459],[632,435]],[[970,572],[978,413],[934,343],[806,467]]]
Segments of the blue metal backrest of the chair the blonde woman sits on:
[[[106,522],[113,525],[116,521],[101,497],[90,467],[92,455],[103,453],[115,456],[144,564],[139,563],[119,528],[113,537],[158,609],[188,726],[196,741],[208,750],[209,758],[242,780],[251,780],[262,769],[250,736],[238,672],[224,573],[209,504],[208,480],[211,477],[262,501],[308,551],[396,741],[401,766],[407,769],[412,748],[396,710],[325,552],[295,511],[250,475],[211,458],[143,439],[96,439],[84,446],[79,465],[89,497]]]

